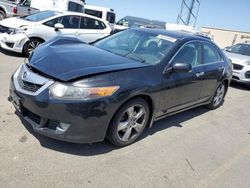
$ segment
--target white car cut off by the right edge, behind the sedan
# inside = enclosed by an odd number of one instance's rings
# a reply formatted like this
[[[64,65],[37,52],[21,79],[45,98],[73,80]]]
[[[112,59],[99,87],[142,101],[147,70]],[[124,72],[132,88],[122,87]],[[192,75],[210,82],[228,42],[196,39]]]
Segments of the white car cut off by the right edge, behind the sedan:
[[[225,49],[233,63],[233,81],[250,86],[250,43],[239,43]]]

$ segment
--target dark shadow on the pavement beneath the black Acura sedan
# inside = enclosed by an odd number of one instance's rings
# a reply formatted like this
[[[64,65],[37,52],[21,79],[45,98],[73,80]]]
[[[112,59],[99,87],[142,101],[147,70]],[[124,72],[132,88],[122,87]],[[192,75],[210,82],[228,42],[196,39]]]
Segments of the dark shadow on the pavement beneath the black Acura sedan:
[[[180,114],[170,116],[168,118],[165,118],[163,120],[157,121],[154,123],[153,127],[150,129],[146,129],[144,131],[144,134],[141,136],[141,139],[147,139],[146,137],[148,135],[153,135],[156,132],[159,132],[164,129],[168,129],[170,127],[182,127],[182,123],[190,120],[194,117],[197,117],[201,114],[204,114],[208,112],[209,110],[205,107],[198,107],[186,112],[182,112]],[[26,129],[35,136],[41,146],[52,149],[55,151],[59,151],[62,153],[68,153],[71,155],[79,155],[79,156],[94,156],[94,155],[100,155],[109,153],[113,150],[117,150],[119,148],[112,146],[109,142],[104,141],[100,143],[95,144],[74,144],[74,143],[68,143],[63,141],[54,140],[48,137],[44,137],[36,132],[33,131],[32,126],[27,123],[20,114],[16,113],[20,120],[22,121],[23,125],[26,127]],[[139,140],[139,141],[140,141]],[[129,147],[129,146],[128,146]]]

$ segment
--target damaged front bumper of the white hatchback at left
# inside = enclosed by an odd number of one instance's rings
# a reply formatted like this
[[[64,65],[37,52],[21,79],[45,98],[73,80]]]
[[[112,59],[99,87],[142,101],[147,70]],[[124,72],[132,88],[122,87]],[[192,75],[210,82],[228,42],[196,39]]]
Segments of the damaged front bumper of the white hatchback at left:
[[[24,44],[29,40],[27,35],[20,33],[9,35],[7,33],[0,34],[0,45],[3,49],[17,53],[23,52]]]

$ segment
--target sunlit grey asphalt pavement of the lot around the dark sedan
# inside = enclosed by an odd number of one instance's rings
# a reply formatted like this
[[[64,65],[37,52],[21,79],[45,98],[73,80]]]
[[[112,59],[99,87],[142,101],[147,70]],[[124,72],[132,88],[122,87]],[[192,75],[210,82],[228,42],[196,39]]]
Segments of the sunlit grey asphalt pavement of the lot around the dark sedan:
[[[0,52],[0,187],[250,187],[250,91],[156,122],[135,144],[71,144],[33,132],[7,101],[24,58]]]

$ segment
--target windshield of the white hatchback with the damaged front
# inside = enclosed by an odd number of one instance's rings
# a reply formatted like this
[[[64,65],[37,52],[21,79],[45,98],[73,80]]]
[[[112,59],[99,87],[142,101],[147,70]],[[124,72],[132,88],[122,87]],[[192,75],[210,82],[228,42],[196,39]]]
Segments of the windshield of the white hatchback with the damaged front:
[[[28,16],[23,16],[21,18],[27,21],[31,21],[31,22],[40,22],[48,18],[51,18],[53,16],[56,16],[58,14],[60,13],[55,12],[55,11],[43,11],[43,12],[28,15]]]

